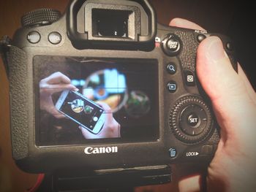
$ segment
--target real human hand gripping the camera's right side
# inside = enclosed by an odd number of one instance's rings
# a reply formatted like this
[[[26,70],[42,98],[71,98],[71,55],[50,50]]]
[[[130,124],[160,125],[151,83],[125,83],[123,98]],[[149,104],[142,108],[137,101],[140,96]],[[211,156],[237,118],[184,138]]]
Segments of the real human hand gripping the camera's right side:
[[[173,19],[170,26],[203,30],[195,23]],[[197,48],[197,77],[211,99],[221,139],[208,166],[208,191],[255,191],[256,94],[241,66],[238,74],[218,37]],[[200,176],[178,183],[180,191],[200,191]]]

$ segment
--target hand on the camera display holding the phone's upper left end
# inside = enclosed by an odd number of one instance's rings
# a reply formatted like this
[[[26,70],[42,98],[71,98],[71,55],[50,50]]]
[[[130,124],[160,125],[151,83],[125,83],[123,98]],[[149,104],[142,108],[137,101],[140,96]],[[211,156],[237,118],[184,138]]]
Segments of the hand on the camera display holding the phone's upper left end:
[[[64,118],[53,104],[52,94],[64,91],[66,89],[78,91],[74,85],[70,83],[69,77],[61,72],[55,72],[39,82],[40,88],[40,109],[49,112],[56,118]]]

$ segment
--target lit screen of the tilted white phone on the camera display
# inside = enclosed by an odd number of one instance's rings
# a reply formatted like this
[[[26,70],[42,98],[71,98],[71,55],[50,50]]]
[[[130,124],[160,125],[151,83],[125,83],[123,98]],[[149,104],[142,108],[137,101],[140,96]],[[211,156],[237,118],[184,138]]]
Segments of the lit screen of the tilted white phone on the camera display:
[[[59,111],[79,123],[80,126],[86,126],[86,128],[93,131],[102,115],[103,109],[92,101],[89,101],[89,99],[80,96],[79,93],[67,91],[67,96],[59,108]]]

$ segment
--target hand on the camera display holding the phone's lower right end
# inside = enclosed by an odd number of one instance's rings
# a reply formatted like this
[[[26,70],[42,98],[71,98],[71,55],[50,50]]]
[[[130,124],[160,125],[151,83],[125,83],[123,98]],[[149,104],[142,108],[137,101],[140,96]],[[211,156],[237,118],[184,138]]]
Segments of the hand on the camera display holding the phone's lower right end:
[[[102,139],[102,138],[116,138],[120,137],[120,124],[116,122],[113,118],[113,114],[111,112],[111,108],[108,104],[103,102],[97,102],[100,107],[103,108],[105,112],[105,122],[102,130],[99,134],[91,134],[91,132],[87,131],[86,128],[79,126],[82,131],[83,137],[86,139]]]

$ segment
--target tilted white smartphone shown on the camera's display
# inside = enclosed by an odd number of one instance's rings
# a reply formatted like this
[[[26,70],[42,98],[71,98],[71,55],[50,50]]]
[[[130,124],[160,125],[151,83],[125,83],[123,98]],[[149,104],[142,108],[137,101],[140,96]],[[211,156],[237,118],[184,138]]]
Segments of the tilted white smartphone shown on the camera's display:
[[[63,91],[55,107],[92,134],[99,134],[105,122],[102,107],[76,91]]]

